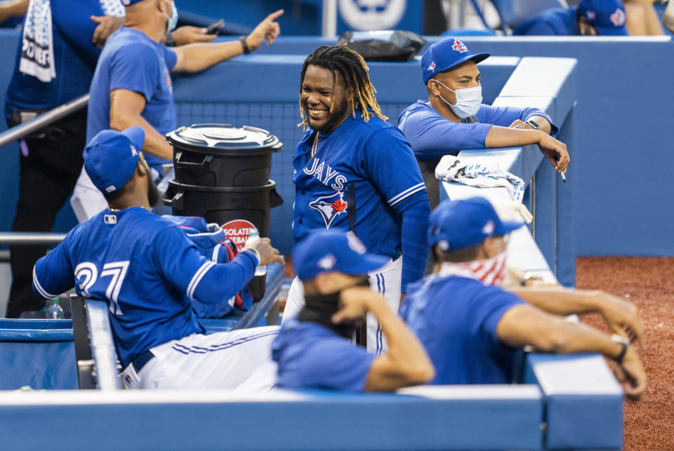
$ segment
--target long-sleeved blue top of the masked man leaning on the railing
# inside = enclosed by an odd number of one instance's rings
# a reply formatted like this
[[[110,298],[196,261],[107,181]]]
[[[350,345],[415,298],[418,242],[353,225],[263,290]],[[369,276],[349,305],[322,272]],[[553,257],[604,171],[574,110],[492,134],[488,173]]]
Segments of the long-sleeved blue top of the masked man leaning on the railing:
[[[550,116],[538,108],[482,104],[475,114],[477,123],[465,123],[444,119],[430,102],[423,100],[418,100],[400,113],[398,127],[409,141],[416,158],[432,161],[443,155],[456,155],[462,149],[484,149],[491,126],[508,127],[517,119],[527,121],[532,116],[548,119],[552,125],[551,136],[559,133],[559,128]]]

